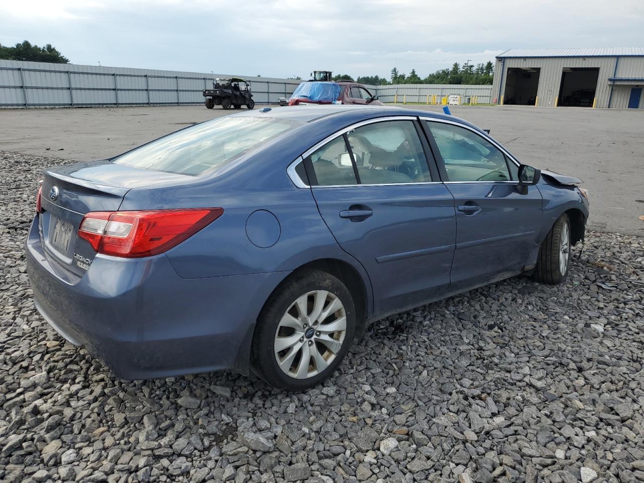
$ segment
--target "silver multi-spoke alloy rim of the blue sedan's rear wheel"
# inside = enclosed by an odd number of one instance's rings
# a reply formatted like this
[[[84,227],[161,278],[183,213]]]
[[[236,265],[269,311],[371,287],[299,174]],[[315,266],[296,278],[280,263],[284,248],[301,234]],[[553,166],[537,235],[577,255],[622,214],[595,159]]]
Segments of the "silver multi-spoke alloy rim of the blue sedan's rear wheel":
[[[346,311],[327,290],[313,290],[296,299],[279,321],[273,349],[280,370],[294,379],[323,372],[345,341]]]

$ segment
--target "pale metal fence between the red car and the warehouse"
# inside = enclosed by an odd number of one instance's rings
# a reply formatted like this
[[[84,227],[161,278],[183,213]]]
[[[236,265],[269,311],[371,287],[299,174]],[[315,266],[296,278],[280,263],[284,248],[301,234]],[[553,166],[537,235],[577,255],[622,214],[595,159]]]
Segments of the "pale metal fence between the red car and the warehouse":
[[[395,84],[393,86],[377,86],[378,99],[382,102],[421,102],[427,103],[427,97],[438,95],[444,97],[454,94],[463,97],[478,96],[479,104],[489,104],[492,86],[468,86],[463,84]]]

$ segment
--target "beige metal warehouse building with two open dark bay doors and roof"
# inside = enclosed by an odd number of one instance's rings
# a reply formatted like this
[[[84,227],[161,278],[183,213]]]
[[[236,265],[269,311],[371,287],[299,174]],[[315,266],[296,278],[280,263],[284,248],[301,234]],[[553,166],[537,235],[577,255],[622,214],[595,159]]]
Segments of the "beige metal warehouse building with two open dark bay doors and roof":
[[[644,109],[644,48],[515,49],[497,55],[498,104]]]

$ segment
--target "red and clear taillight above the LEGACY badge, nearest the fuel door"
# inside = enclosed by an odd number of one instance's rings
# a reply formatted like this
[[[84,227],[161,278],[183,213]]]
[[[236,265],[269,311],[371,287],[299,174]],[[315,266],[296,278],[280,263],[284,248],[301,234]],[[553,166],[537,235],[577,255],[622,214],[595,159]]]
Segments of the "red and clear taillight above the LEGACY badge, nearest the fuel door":
[[[219,218],[223,208],[158,211],[94,211],[79,237],[98,253],[140,258],[163,253]]]

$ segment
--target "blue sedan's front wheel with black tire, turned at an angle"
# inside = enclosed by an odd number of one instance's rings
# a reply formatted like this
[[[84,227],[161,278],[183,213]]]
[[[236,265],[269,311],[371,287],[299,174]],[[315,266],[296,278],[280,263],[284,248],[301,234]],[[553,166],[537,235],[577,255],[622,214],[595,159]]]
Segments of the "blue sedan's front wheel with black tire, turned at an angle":
[[[562,214],[545,237],[539,249],[533,277],[551,285],[562,283],[568,277],[571,258],[571,225],[567,214]]]

